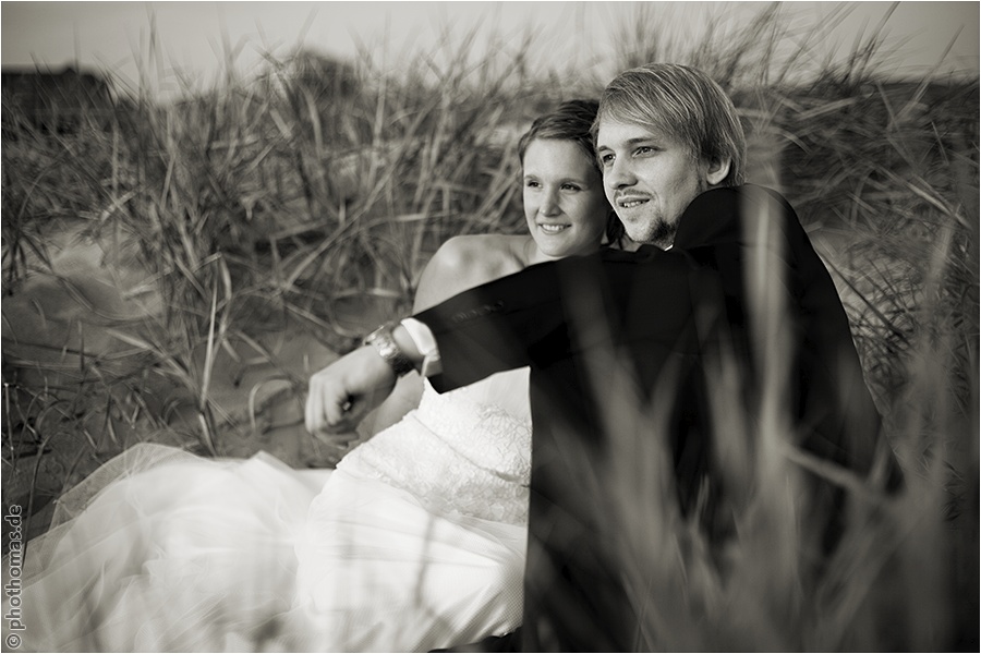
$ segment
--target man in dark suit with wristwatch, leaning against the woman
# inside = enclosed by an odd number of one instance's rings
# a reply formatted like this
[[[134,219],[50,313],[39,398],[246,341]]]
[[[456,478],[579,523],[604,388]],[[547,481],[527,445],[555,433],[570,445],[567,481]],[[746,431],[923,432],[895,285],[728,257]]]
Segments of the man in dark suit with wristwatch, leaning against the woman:
[[[898,480],[827,270],[786,201],[742,185],[744,138],[725,93],[690,68],[634,69],[607,86],[594,131],[607,198],[645,245],[461,293],[311,379],[307,428],[340,434],[413,367],[445,391],[531,366],[524,623],[498,646],[647,646],[651,589],[623,557],[625,532],[657,533],[674,510],[722,552],[751,489],[720,461],[752,451],[764,429],[811,470]],[[647,471],[630,482],[633,505],[625,462]],[[843,528],[844,494],[801,474],[800,514],[813,517],[802,543],[820,560]]]

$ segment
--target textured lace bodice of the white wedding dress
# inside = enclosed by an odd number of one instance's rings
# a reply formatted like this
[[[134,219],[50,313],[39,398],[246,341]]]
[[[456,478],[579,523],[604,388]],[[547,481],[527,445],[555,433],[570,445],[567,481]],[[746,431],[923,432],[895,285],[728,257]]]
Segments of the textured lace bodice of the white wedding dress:
[[[528,520],[528,368],[453,391],[425,383],[419,408],[346,456],[338,470],[414,495],[426,508],[511,524]]]

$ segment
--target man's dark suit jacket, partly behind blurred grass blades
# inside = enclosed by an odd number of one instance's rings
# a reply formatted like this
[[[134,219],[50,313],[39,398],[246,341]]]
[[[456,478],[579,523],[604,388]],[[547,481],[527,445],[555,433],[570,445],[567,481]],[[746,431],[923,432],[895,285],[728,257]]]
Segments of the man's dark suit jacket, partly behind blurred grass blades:
[[[761,315],[778,319],[756,317],[747,266],[772,282],[768,296],[785,313]],[[766,393],[778,393],[802,449],[861,474],[873,465],[880,419],[845,311],[792,208],[762,187],[698,196],[670,251],[531,266],[415,317],[439,347],[443,373],[431,379],[439,391],[531,366],[529,558],[513,649],[642,646],[633,609],[642,601],[628,596],[610,526],[609,463],[623,455],[615,450],[643,449],[625,435],[664,444],[678,508],[713,542],[731,535],[714,444],[730,431],[752,434]],[[719,415],[720,395],[741,415]],[[831,547],[840,492],[812,491],[809,509],[827,513],[818,529]]]

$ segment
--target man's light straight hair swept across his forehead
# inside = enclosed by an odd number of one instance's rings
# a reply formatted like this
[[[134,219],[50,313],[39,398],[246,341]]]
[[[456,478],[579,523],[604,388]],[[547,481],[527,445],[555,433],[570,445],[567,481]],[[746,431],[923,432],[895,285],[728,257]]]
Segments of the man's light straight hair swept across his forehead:
[[[593,136],[601,120],[639,124],[679,138],[703,161],[729,159],[720,186],[746,179],[746,136],[726,92],[698,69],[649,63],[617,75],[600,99]]]

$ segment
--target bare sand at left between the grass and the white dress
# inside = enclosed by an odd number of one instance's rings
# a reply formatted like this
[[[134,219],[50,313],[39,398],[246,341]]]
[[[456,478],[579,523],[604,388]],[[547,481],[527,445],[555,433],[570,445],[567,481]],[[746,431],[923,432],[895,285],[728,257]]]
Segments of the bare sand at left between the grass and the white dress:
[[[94,237],[90,228],[84,220],[57,226],[45,240],[50,267],[32,256],[26,278],[4,288],[3,502],[32,505],[32,535],[47,526],[53,498],[135,443],[206,453],[194,399],[166,365],[126,342],[161,312],[133,239]],[[367,330],[374,314],[360,307],[346,319]],[[256,339],[271,356],[238,341],[216,358],[209,397],[219,455],[264,450],[296,468],[332,465],[344,449],[305,432],[303,401],[306,379],[337,354],[300,328]],[[204,351],[194,360],[203,362]]]

